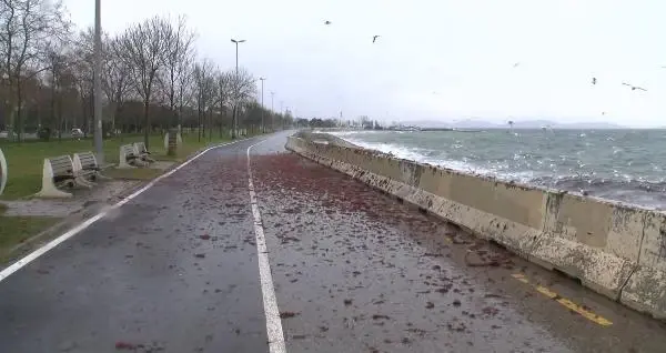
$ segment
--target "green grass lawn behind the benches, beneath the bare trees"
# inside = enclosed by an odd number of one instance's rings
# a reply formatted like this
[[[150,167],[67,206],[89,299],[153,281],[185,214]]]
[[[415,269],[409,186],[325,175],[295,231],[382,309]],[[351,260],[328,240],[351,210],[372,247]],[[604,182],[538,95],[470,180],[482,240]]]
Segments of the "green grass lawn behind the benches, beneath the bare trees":
[[[132,134],[104,140],[104,162],[118,163],[120,145],[138,141],[143,141],[143,135]],[[150,138],[150,151],[152,152],[152,157],[157,160],[172,160],[180,162],[188,155],[206,145],[224,141],[229,141],[229,138],[213,137],[212,140],[202,139],[202,141],[198,141],[196,133],[185,134],[183,135],[183,143],[178,151],[178,155],[169,157],[164,150],[163,138],[161,135],[152,135]],[[4,153],[9,170],[7,186],[3,194],[0,195],[0,199],[16,200],[29,196],[39,191],[41,188],[41,174],[44,158],[62,154],[71,155],[75,152],[92,151],[94,148],[92,139],[83,139],[80,141],[63,139],[62,141],[53,140],[48,142],[26,141],[20,144],[0,141],[0,149],[2,149],[2,152]]]

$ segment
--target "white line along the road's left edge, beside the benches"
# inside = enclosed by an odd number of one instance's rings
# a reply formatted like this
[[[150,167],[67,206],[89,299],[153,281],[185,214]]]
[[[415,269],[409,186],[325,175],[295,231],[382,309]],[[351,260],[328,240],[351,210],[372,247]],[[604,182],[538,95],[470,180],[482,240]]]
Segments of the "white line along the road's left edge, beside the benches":
[[[4,281],[8,276],[10,276],[12,273],[21,270],[23,266],[26,266],[27,264],[31,263],[32,261],[37,260],[39,256],[46,254],[47,252],[49,252],[51,249],[58,246],[59,244],[61,244],[62,242],[64,242],[65,240],[77,235],[78,233],[80,233],[82,230],[87,229],[88,226],[90,226],[90,224],[99,221],[100,219],[104,218],[104,215],[107,215],[109,212],[120,208],[121,205],[130,202],[132,199],[137,198],[138,195],[140,195],[141,193],[143,193],[145,190],[152,188],[155,183],[158,183],[160,180],[168,178],[169,175],[175,173],[176,171],[179,171],[181,168],[184,168],[185,165],[190,164],[192,161],[194,161],[195,159],[200,158],[201,155],[203,155],[204,153],[206,153],[210,150],[216,149],[216,148],[221,148],[224,145],[229,145],[229,144],[233,144],[233,143],[238,143],[241,141],[244,141],[246,139],[243,140],[239,140],[239,141],[234,141],[234,142],[228,142],[228,143],[223,143],[223,144],[218,144],[211,148],[208,148],[203,151],[201,151],[201,153],[194,155],[193,158],[191,158],[190,160],[185,161],[184,163],[182,163],[181,165],[172,169],[171,171],[155,178],[154,180],[152,180],[151,182],[149,182],[145,186],[137,190],[135,192],[133,192],[131,195],[122,199],[121,201],[119,201],[118,203],[103,209],[100,213],[93,215],[92,218],[83,221],[83,223],[80,223],[79,225],[72,228],[71,230],[67,231],[64,234],[56,238],[54,240],[50,241],[49,243],[47,243],[46,245],[37,249],[36,251],[29,253],[28,255],[26,255],[24,258],[20,259],[19,261],[12,263],[10,266],[8,266],[7,269],[0,271],[0,282]]]

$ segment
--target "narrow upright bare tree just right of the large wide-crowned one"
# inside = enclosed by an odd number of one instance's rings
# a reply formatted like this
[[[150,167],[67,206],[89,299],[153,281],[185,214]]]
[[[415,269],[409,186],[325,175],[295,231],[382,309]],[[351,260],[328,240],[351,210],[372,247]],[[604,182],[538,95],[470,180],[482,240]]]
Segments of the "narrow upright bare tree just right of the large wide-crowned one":
[[[175,26],[170,23],[164,27],[165,53],[163,57],[164,85],[169,109],[173,114],[175,123],[180,124],[181,99],[186,83],[186,77],[190,74],[189,65],[193,57],[194,33],[188,29],[184,17],[180,17]],[[173,123],[172,122],[172,123]]]

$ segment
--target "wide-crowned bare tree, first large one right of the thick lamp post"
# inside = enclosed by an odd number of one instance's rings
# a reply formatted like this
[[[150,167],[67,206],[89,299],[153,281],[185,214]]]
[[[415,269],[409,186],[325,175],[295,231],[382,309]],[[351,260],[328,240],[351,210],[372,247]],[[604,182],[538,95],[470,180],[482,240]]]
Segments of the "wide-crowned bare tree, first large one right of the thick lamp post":
[[[132,84],[143,101],[144,134],[143,142],[149,148],[150,103],[158,71],[164,62],[167,53],[165,28],[170,24],[164,19],[154,17],[142,23],[130,27],[120,39],[119,52],[124,59]]]

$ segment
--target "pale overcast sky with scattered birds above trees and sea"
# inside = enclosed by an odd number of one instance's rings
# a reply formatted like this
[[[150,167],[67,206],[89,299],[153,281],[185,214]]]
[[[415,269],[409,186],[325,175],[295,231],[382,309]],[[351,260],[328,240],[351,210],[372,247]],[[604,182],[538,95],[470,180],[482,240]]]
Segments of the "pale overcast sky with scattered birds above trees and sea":
[[[64,4],[93,24],[94,1]],[[639,128],[666,127],[664,13],[658,0],[102,0],[109,33],[186,16],[199,57],[223,69],[245,39],[264,104],[299,117]]]

